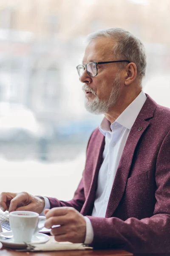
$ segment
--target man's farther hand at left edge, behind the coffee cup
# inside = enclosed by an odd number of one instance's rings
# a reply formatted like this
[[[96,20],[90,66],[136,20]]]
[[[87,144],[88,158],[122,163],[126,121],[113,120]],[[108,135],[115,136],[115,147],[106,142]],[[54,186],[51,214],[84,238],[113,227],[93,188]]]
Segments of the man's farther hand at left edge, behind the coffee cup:
[[[0,208],[5,212],[13,211],[32,211],[41,213],[44,209],[45,201],[43,198],[38,198],[30,195],[27,192],[9,193],[2,192],[0,194]]]

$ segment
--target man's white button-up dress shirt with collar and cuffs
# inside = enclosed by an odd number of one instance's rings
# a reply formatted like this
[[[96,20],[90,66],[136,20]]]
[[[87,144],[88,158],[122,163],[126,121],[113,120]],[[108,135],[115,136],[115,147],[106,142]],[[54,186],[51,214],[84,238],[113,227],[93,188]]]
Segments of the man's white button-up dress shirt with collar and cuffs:
[[[99,131],[105,136],[105,149],[103,151],[103,163],[99,170],[92,216],[105,217],[113,181],[127,137],[146,99],[146,95],[141,91],[136,99],[118,116],[115,122],[111,124],[105,117],[101,122]],[[49,200],[48,198],[44,199],[44,209],[49,209]],[[90,244],[94,238],[93,227],[88,217],[85,217],[85,221],[85,244]]]

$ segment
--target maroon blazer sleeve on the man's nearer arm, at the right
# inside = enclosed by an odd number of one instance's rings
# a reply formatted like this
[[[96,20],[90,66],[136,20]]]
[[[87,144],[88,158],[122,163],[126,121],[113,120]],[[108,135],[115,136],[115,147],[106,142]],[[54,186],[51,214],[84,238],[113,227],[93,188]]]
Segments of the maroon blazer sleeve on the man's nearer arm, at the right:
[[[156,204],[150,218],[96,218],[88,216],[95,248],[122,247],[132,253],[170,253],[170,132],[156,161]],[[146,254],[145,254],[146,255]]]

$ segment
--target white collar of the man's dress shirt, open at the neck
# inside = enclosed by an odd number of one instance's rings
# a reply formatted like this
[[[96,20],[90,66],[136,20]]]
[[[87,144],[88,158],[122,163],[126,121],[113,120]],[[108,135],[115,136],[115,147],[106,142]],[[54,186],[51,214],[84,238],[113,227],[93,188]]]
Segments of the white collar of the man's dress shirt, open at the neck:
[[[133,102],[130,103],[130,105],[127,106],[127,108],[118,116],[118,118],[113,122],[112,124],[104,117],[102,120],[99,130],[102,132],[103,135],[106,134],[106,132],[113,129],[113,126],[115,123],[118,123],[121,126],[124,126],[127,129],[131,129],[136,117],[138,116],[139,112],[141,111],[141,108],[144,105],[144,102],[146,101],[147,96],[145,95],[144,91],[142,90],[139,95],[136,97],[136,99],[133,100]]]

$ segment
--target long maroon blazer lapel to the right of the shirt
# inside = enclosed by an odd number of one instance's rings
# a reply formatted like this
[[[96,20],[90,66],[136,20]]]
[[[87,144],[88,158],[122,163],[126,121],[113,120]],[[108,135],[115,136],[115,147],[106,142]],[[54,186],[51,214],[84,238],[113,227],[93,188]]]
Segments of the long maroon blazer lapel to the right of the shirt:
[[[113,215],[113,212],[116,210],[122,199],[122,196],[125,192],[127,178],[129,175],[136,145],[144,131],[150,125],[150,118],[153,116],[156,105],[156,102],[154,102],[149,96],[147,96],[147,100],[144,103],[139,115],[136,118],[135,123],[131,128],[113,182],[111,195],[108,201],[108,208],[105,214],[106,218],[109,218]]]

